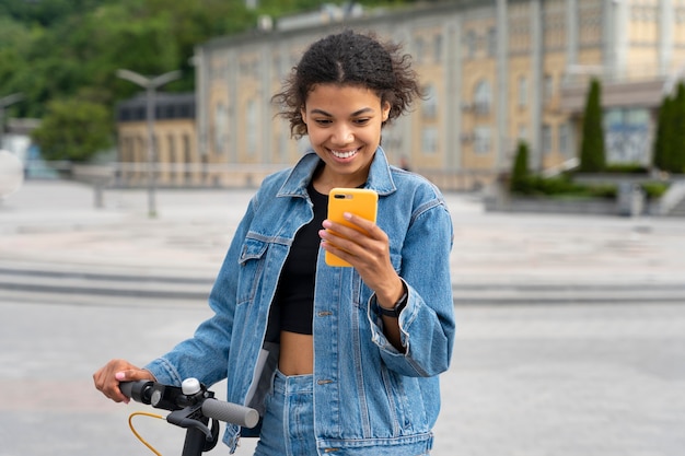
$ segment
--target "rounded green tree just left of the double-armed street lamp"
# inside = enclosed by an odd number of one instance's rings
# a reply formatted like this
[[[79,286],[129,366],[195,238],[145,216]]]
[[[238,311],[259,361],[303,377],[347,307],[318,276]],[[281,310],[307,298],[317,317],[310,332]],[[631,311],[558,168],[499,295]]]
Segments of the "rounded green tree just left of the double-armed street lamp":
[[[88,162],[112,145],[112,112],[80,100],[54,101],[32,133],[45,160]]]

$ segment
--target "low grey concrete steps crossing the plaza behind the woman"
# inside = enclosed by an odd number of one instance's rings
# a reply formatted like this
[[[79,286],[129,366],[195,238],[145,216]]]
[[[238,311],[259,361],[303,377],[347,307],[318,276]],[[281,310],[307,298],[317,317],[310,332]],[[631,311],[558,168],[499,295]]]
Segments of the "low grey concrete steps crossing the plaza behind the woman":
[[[169,272],[169,271],[167,271]],[[120,270],[11,268],[0,264],[0,300],[206,303],[213,278]],[[685,303],[685,283],[455,283],[456,305]]]

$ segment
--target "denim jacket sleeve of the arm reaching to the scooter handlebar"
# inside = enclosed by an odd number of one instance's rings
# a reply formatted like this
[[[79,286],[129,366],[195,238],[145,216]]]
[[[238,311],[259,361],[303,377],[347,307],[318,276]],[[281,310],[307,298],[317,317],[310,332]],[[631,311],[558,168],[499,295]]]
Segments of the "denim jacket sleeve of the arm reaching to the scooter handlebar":
[[[144,366],[158,382],[179,386],[185,378],[195,377],[206,385],[213,385],[225,378],[236,304],[236,268],[254,217],[255,201],[256,197],[236,229],[209,294],[213,315],[198,326],[191,338]]]

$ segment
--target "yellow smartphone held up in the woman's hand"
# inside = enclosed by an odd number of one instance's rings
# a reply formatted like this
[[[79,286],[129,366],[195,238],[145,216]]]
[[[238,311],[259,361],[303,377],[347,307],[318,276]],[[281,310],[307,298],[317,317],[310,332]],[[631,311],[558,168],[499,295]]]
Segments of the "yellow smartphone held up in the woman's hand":
[[[342,218],[345,212],[353,213],[375,223],[375,214],[379,206],[379,194],[368,188],[339,188],[336,187],[328,194],[328,220],[355,227]],[[338,267],[351,267],[349,262],[336,255],[326,252],[326,265]]]

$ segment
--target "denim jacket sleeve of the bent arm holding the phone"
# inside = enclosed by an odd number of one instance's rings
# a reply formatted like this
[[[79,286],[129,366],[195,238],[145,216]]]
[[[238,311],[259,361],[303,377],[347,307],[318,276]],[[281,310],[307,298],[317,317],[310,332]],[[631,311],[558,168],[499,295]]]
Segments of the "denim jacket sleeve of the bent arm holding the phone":
[[[383,334],[375,294],[369,301],[373,341],[388,369],[407,376],[433,376],[450,366],[454,344],[454,304],[450,277],[453,227],[442,200],[413,215],[402,248],[400,278],[408,301],[399,314],[397,351]]]

